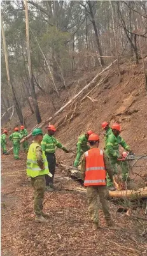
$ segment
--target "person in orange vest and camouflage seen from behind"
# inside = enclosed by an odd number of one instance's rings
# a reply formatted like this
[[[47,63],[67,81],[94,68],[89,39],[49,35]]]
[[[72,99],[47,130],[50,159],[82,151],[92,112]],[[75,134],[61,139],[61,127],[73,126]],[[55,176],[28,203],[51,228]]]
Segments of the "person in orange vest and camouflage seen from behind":
[[[99,227],[99,208],[97,196],[99,195],[102,204],[102,211],[108,226],[112,225],[109,205],[107,201],[106,172],[108,172],[111,181],[113,174],[109,166],[109,160],[106,154],[99,149],[99,136],[95,133],[88,137],[90,149],[83,154],[81,161],[81,178],[87,187],[88,210],[93,222],[92,229]]]

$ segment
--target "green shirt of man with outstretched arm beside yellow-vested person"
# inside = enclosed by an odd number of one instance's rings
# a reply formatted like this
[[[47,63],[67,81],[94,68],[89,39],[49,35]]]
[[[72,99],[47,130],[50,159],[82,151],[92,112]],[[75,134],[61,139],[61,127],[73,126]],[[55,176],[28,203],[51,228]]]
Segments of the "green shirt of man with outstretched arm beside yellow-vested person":
[[[55,153],[55,147],[65,150],[64,147],[55,137],[48,135],[47,133],[43,136],[41,147],[45,153]],[[66,149],[67,150],[67,149]]]

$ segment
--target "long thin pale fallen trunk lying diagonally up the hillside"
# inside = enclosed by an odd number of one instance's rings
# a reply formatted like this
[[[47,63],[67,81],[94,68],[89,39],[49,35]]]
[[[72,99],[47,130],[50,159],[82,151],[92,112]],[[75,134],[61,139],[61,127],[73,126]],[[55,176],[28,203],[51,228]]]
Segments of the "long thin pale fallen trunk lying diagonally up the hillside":
[[[81,93],[83,93],[86,89],[88,89],[88,87],[90,87],[95,80],[97,79],[97,77],[99,77],[99,75],[101,75],[103,72],[105,72],[106,70],[108,70],[113,64],[116,63],[116,59],[115,61],[113,61],[113,63],[111,63],[109,66],[107,66],[104,70],[102,70],[102,72],[100,72],[99,74],[97,74],[94,79],[92,79],[91,82],[89,82],[85,87],[83,87],[83,89],[81,89],[81,91],[79,91],[76,95],[73,96],[73,98],[71,98],[71,100],[69,100],[69,102],[66,103],[66,105],[64,105],[63,107],[61,107],[57,112],[55,112],[55,114],[53,116],[51,116],[50,118],[46,119],[43,123],[41,123],[39,126],[36,125],[36,128],[42,128],[43,126],[45,126],[46,123],[50,122],[53,117],[57,116],[58,114],[60,114],[64,109],[66,109],[66,107],[68,107],[74,100],[76,100],[76,98],[78,98],[78,96],[80,96]],[[29,135],[27,135],[25,137],[25,139],[29,139],[32,136],[32,133],[29,133]],[[22,142],[24,142],[25,139],[22,139],[20,141],[20,144],[22,144]],[[13,149],[13,147],[11,147],[8,150],[8,153]]]

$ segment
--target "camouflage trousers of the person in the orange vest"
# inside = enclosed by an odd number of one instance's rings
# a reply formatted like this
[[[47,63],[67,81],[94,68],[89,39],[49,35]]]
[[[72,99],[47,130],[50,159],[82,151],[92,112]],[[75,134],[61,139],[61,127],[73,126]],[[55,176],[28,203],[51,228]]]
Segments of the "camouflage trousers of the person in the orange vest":
[[[88,211],[90,213],[90,218],[92,222],[99,222],[99,206],[97,202],[97,197],[99,195],[99,200],[102,204],[102,211],[104,213],[105,219],[111,218],[109,213],[108,204],[108,190],[106,186],[87,186],[87,199],[88,199]]]

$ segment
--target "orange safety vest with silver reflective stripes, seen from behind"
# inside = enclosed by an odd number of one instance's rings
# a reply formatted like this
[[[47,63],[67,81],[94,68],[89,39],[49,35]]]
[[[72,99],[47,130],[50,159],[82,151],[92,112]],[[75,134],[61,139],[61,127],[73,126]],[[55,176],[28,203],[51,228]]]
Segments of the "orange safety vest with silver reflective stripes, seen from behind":
[[[103,151],[93,147],[85,152],[86,172],[85,186],[106,186],[106,169],[104,166]]]

